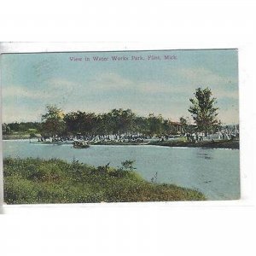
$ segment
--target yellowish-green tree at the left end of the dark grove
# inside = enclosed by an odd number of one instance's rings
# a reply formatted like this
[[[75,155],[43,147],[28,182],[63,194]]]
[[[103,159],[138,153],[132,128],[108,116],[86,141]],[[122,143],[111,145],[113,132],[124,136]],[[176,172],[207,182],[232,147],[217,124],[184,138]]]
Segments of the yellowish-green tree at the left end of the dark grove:
[[[42,133],[45,136],[60,136],[65,131],[64,113],[55,105],[46,106],[47,112],[42,115]]]

